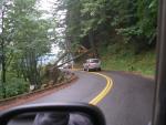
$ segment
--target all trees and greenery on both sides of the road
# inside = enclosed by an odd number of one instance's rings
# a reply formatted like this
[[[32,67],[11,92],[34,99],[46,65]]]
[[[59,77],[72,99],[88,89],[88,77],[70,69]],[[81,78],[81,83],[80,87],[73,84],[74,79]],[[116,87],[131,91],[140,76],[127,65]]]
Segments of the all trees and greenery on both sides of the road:
[[[154,74],[157,0],[52,0],[51,12],[39,8],[40,0],[0,1],[0,98],[42,86],[50,65],[39,62],[53,44],[61,50],[55,65],[84,49],[104,70]]]

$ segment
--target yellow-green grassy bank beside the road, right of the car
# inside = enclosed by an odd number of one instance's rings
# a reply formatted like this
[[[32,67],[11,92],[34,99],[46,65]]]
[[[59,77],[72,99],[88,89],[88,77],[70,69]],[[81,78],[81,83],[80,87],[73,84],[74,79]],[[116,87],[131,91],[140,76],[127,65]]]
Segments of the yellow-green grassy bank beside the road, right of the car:
[[[120,49],[120,44],[114,44],[107,49],[101,48],[100,53],[104,70],[129,71],[154,76],[156,65],[154,50],[135,54],[132,46],[131,49],[128,46]]]

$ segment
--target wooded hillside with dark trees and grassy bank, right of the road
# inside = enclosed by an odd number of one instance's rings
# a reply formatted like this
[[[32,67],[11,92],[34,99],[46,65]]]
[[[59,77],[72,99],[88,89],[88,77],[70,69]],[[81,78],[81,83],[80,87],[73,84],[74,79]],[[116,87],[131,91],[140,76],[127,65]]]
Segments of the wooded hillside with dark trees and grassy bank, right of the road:
[[[93,50],[86,59],[101,58],[105,70],[154,75],[157,0],[60,0],[59,3],[58,10],[66,10],[65,35],[72,51]]]

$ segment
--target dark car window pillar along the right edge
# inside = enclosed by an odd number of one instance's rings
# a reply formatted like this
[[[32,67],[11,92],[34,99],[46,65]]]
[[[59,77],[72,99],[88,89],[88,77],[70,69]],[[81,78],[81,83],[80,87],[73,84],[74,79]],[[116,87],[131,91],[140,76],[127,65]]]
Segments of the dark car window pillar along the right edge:
[[[153,125],[166,125],[166,0],[159,0]]]

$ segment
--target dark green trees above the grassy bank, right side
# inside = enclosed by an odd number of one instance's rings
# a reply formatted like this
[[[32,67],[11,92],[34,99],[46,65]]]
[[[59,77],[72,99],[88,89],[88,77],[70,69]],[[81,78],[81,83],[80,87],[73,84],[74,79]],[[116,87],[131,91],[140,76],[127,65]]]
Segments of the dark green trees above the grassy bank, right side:
[[[61,0],[66,10],[66,41],[86,48],[123,37],[135,45],[155,43],[157,0]],[[91,35],[91,37],[90,37]],[[141,42],[139,42],[141,41]],[[121,41],[122,42],[122,41]],[[107,44],[107,43],[106,43]],[[77,45],[79,46],[79,45]],[[144,49],[144,48],[143,48]]]

